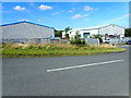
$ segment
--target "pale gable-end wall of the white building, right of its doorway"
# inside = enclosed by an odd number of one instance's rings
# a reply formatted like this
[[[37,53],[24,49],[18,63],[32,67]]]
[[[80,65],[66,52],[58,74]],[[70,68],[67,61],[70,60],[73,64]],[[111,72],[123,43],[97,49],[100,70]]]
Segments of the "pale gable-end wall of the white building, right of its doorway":
[[[124,28],[119,27],[117,25],[109,25],[107,27],[99,28],[100,35],[120,35],[120,37],[124,37]]]

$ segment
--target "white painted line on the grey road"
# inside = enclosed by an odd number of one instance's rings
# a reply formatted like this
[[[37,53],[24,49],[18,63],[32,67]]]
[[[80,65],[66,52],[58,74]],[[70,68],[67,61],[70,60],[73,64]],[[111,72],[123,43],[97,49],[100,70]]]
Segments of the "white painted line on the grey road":
[[[79,69],[79,68],[85,68],[85,66],[92,66],[92,65],[102,65],[107,63],[115,63],[115,62],[121,62],[124,60],[114,60],[114,61],[107,61],[107,62],[98,62],[98,63],[91,63],[91,64],[82,64],[82,65],[75,65],[75,66],[67,66],[67,68],[59,68],[59,69],[51,69],[47,70],[47,72],[55,72],[55,71],[62,71],[62,70],[70,70],[70,69]]]

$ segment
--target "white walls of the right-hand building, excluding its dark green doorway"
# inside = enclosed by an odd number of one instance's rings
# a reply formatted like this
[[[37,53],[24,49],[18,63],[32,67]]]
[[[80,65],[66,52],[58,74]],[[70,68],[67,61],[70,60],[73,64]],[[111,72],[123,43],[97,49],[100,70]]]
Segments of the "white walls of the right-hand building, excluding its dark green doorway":
[[[74,38],[76,30],[80,32],[81,38],[84,38],[83,36],[84,33],[90,33],[90,36],[97,35],[97,34],[99,35],[108,34],[108,35],[120,35],[120,37],[124,37],[124,28],[117,25],[107,25],[105,27],[91,28],[91,29],[72,29],[68,32],[69,37]]]

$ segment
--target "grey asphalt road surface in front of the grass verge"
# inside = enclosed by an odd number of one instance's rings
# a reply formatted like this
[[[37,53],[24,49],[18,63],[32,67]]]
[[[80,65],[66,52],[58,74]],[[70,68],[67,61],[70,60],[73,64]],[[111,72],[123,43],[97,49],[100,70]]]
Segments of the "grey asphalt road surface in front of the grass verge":
[[[129,95],[129,51],[81,57],[3,59],[2,65],[3,96]]]

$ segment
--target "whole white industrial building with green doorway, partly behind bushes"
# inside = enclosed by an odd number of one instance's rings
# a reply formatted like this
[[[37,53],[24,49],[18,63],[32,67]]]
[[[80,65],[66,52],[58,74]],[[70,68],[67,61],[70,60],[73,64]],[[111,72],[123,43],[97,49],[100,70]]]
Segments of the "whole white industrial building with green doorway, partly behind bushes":
[[[124,28],[115,24],[104,25],[104,26],[95,26],[95,27],[84,27],[84,28],[75,28],[69,30],[70,38],[74,38],[76,32],[81,35],[81,38],[90,38],[93,35],[103,35],[103,38],[122,38],[124,37]],[[62,37],[64,38],[66,32],[62,33]]]

